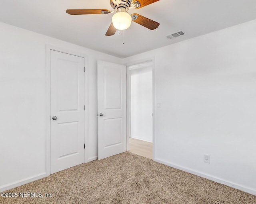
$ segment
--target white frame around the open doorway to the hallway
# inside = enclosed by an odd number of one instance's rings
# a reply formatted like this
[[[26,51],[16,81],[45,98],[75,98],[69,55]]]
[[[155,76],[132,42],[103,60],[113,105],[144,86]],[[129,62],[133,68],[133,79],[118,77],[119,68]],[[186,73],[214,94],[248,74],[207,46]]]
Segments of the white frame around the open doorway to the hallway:
[[[152,135],[153,135],[153,140],[152,140],[152,145],[153,145],[153,150],[152,150],[152,155],[153,155],[153,161],[155,161],[155,110],[156,110],[156,101],[155,101],[155,93],[156,93],[156,84],[155,84],[155,58],[154,57],[151,57],[151,58],[148,58],[148,59],[144,59],[144,60],[140,60],[140,61],[134,61],[132,63],[128,63],[126,64],[126,81],[127,81],[127,85],[126,85],[126,88],[127,88],[127,104],[126,104],[126,107],[127,107],[127,151],[128,151],[128,145],[129,145],[129,137],[130,137],[130,71],[129,71],[129,67],[132,66],[132,65],[138,65],[138,64],[142,64],[142,63],[146,63],[146,62],[149,62],[151,61],[152,62],[152,88],[153,88],[153,94],[152,94],[152,104],[153,104],[153,128],[152,128]]]

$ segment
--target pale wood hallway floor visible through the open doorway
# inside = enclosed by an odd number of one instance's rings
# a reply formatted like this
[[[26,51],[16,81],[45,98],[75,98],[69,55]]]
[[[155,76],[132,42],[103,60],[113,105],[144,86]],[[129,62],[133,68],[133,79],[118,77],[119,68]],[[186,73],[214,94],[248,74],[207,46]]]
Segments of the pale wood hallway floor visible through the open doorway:
[[[131,153],[152,159],[152,142],[146,142],[140,139],[129,138],[129,150]]]

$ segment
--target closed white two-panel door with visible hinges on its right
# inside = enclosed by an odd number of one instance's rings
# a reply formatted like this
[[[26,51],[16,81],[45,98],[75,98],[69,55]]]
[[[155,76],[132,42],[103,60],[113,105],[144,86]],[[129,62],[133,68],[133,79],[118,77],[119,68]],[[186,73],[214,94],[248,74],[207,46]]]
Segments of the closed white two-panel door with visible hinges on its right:
[[[50,51],[50,173],[84,163],[84,58]]]

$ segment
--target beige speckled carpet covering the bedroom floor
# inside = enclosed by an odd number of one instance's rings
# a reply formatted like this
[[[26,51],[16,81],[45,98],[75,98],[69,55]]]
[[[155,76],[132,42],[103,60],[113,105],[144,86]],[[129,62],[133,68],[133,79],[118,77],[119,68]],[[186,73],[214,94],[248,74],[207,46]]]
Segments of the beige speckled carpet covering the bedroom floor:
[[[2,198],[4,204],[256,204],[256,196],[130,152],[78,165],[6,192],[52,198]]]

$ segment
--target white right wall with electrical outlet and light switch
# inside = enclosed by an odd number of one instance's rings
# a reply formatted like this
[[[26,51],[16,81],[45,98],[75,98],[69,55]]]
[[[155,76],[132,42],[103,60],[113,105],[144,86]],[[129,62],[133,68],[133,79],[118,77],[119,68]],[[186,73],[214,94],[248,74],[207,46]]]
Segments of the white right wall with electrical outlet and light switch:
[[[123,63],[150,57],[155,160],[256,195],[256,20]]]

